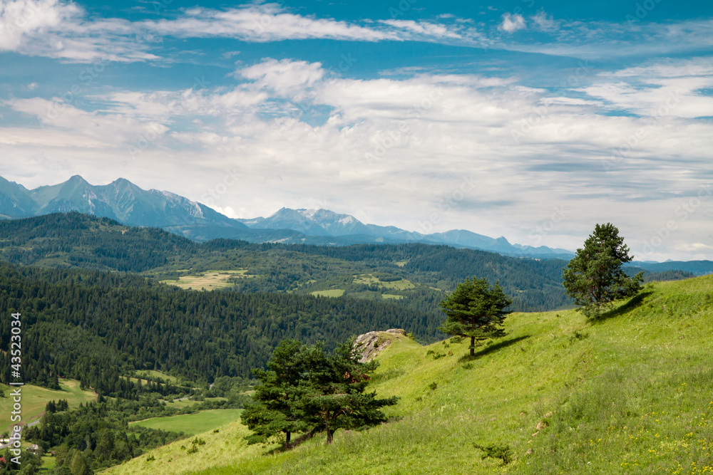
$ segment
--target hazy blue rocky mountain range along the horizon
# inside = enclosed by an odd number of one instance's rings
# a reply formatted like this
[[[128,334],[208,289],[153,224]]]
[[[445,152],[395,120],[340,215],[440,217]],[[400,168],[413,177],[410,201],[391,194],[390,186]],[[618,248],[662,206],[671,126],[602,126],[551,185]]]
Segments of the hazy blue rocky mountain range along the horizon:
[[[0,177],[0,219],[20,219],[55,212],[76,211],[116,219],[127,226],[165,229],[194,241],[242,239],[253,243],[349,244],[424,243],[491,251],[505,256],[535,259],[571,259],[572,251],[547,246],[511,244],[463,229],[421,234],[395,226],[364,224],[350,214],[327,209],[279,209],[275,214],[252,219],[232,219],[214,209],[171,192],[141,189],[127,179],[93,185],[79,175],[66,182],[36,189]],[[677,269],[697,275],[713,272],[713,262],[635,263],[652,271]],[[632,263],[634,264],[634,263]]]

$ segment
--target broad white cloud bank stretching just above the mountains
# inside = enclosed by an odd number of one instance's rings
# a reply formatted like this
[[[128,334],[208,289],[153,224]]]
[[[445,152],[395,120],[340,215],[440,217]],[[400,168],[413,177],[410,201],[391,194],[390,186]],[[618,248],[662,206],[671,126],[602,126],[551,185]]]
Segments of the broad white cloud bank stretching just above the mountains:
[[[635,66],[648,71],[639,76],[653,81],[650,94],[681,87],[667,80],[693,81],[687,86],[692,91],[707,71],[686,63],[679,70],[692,76],[673,75],[676,65],[665,64]],[[4,128],[0,155],[14,157],[17,174],[44,174],[45,184],[56,182],[57,173],[36,167],[36,157],[81,163],[84,171],[76,172],[97,182],[121,174],[191,199],[201,199],[226,167],[235,166],[240,182],[211,205],[242,217],[313,207],[320,199],[377,224],[419,231],[436,214],[434,231],[458,227],[570,249],[581,246],[595,222],[612,221],[635,254],[657,227],[676,219],[682,194],[713,177],[708,120],[610,115],[610,99],[619,101],[617,107],[652,100],[635,98],[639,84],[629,83],[633,76],[626,70],[593,78],[592,88],[611,84],[606,98],[565,87],[553,95],[516,78],[470,74],[335,78],[319,63],[274,58],[238,73],[245,82],[232,88],[95,94],[100,109],[67,106],[45,121],[42,133]],[[318,123],[290,117],[284,108],[294,97],[308,108],[327,109],[329,117]],[[11,100],[0,107],[43,115],[55,102]],[[266,118],[260,113],[272,102],[288,105]],[[517,141],[513,131],[522,132]],[[148,147],[131,160],[127,146],[152,133]],[[612,152],[637,136],[635,147],[606,169]],[[167,172],[172,169],[180,173]],[[473,177],[476,186],[453,201],[464,177]],[[562,206],[568,213],[562,228],[533,239],[531,229]],[[706,226],[709,216],[692,214],[657,252],[674,258],[704,253],[680,246],[707,242]]]

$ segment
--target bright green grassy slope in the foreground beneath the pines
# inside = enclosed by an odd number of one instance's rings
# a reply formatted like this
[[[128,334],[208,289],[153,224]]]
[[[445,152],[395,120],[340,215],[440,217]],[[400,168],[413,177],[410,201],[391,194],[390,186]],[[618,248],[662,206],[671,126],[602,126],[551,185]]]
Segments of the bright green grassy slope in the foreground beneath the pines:
[[[245,429],[231,424],[235,437],[208,441],[201,450],[210,461],[194,459],[193,469],[205,469],[203,474],[713,471],[713,276],[657,283],[598,323],[574,310],[519,313],[507,322],[509,335],[481,348],[473,360],[463,357],[465,341],[420,347],[400,340],[386,348],[374,389],[401,396],[389,408],[404,417],[399,422],[367,432],[338,431],[330,447],[317,437],[292,451],[262,456],[267,449],[243,448],[239,436]],[[434,359],[428,350],[445,356]],[[508,444],[515,459],[507,466],[482,460],[474,442]],[[178,450],[177,444],[170,447],[159,451]],[[213,461],[214,452],[225,459]],[[139,474],[145,464],[139,459],[125,467]],[[161,473],[180,473],[170,464],[161,466]]]

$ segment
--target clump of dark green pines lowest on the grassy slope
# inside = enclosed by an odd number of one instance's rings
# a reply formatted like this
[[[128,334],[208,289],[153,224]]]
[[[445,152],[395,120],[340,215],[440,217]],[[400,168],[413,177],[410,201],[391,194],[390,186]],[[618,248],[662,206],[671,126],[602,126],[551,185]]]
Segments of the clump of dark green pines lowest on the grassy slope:
[[[272,353],[269,371],[253,370],[261,384],[252,404],[241,414],[253,434],[248,443],[269,442],[285,436],[289,447],[292,432],[327,432],[332,443],[337,429],[361,429],[384,422],[381,407],[396,404],[397,397],[376,399],[366,385],[376,362],[359,362],[354,341],[337,346],[333,355],[321,344],[304,345],[282,341]]]

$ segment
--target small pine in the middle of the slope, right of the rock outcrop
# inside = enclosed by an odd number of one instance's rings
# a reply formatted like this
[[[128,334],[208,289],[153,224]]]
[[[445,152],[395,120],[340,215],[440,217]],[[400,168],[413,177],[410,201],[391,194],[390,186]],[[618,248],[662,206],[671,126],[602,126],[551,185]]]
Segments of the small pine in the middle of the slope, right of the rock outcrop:
[[[448,335],[471,338],[471,356],[475,355],[476,340],[505,336],[503,320],[511,313],[505,310],[513,301],[506,296],[498,282],[489,286],[486,278],[466,278],[445,300],[441,310],[447,319],[438,330]]]

